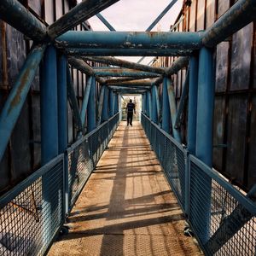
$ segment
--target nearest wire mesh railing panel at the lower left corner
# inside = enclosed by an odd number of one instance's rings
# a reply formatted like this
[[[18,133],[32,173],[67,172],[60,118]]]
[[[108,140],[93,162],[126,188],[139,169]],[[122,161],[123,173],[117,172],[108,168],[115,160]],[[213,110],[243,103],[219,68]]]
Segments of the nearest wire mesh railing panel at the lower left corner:
[[[63,156],[0,198],[0,255],[44,255],[64,221]]]

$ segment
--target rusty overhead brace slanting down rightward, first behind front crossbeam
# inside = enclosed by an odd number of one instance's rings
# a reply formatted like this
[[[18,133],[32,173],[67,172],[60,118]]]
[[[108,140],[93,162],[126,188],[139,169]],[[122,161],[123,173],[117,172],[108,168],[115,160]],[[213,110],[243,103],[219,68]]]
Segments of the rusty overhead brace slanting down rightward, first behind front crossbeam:
[[[119,59],[116,59],[113,57],[84,56],[83,59],[85,61],[95,61],[95,62],[99,62],[99,63],[103,63],[103,64],[113,65],[113,66],[117,66],[117,67],[126,67],[126,68],[141,70],[141,71],[145,71],[145,72],[160,73],[160,74],[166,73],[166,70],[164,67],[151,67],[148,65],[137,64],[137,63],[131,62],[131,61],[119,60]]]

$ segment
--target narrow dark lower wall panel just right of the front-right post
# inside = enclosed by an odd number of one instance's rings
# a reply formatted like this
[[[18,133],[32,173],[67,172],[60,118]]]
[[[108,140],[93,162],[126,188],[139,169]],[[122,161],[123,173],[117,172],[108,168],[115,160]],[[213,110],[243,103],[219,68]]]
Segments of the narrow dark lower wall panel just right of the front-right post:
[[[223,148],[219,148],[219,144],[223,144],[224,141],[224,97],[218,96],[215,98],[214,106],[214,124],[213,124],[213,166],[217,170],[222,169],[223,160]]]

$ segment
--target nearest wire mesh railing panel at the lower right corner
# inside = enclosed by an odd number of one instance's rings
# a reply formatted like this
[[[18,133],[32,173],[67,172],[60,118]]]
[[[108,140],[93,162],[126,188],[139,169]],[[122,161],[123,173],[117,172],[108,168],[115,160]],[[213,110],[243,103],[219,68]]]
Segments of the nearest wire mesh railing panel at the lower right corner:
[[[207,255],[255,255],[255,191],[242,195],[192,156],[190,175],[189,222]]]

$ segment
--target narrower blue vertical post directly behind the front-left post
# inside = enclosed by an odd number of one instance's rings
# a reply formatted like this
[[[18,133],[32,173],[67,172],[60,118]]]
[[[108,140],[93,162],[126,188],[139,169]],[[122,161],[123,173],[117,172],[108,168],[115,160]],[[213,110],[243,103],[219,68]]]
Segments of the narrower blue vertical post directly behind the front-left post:
[[[67,149],[67,59],[59,56],[57,62],[58,81],[58,136],[59,154]]]

